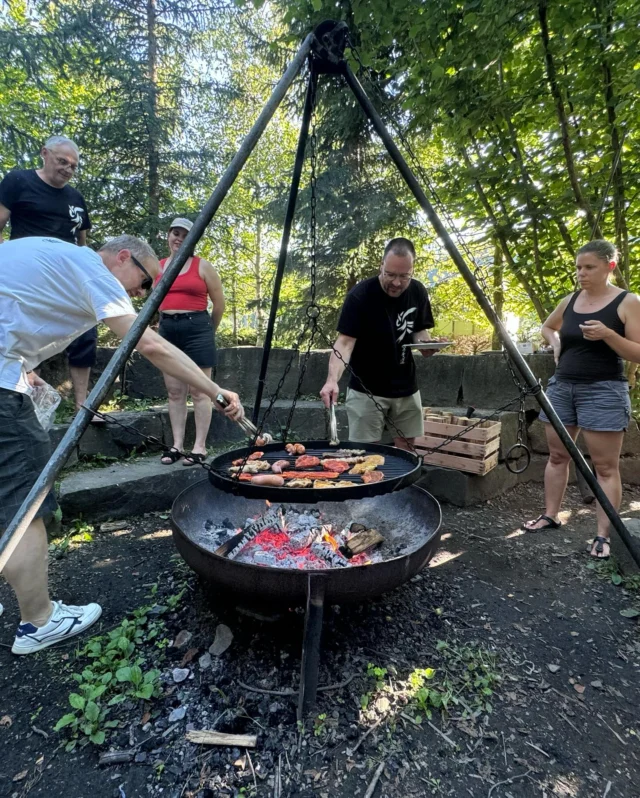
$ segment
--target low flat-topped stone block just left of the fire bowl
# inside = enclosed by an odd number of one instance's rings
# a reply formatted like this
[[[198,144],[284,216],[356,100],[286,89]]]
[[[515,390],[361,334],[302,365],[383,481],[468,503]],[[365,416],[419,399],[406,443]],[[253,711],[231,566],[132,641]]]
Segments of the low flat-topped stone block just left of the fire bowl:
[[[65,520],[79,515],[88,521],[118,520],[169,510],[181,491],[203,478],[201,468],[185,468],[180,462],[165,466],[156,457],[115,463],[64,477],[59,504]]]

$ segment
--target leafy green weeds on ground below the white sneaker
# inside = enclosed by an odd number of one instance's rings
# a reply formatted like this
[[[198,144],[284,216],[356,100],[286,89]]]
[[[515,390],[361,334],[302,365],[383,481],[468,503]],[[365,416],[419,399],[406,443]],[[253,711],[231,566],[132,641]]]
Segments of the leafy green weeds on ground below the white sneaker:
[[[184,591],[169,596],[167,607],[156,607],[156,615],[169,606],[175,608]],[[164,622],[149,618],[151,605],[135,610],[115,629],[92,637],[78,652],[90,664],[73,673],[76,691],[69,694],[72,712],[63,715],[54,731],[66,730],[69,736],[66,750],[76,745],[102,745],[109,731],[119,725],[110,718],[112,709],[123,701],[150,701],[161,694],[160,671],[148,667],[151,653],[162,651],[168,640],[164,637]]]

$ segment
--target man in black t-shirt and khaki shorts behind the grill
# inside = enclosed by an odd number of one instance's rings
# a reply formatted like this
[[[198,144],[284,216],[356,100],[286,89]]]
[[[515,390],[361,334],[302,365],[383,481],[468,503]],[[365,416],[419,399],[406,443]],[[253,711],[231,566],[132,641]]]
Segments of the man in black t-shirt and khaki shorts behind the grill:
[[[338,380],[349,363],[347,391],[349,440],[374,443],[382,438],[385,414],[394,445],[402,449],[423,434],[422,403],[413,355],[407,344],[429,341],[434,326],[427,289],[413,279],[416,253],[407,238],[392,239],[384,250],[380,273],[358,283],[348,294],[338,321],[329,374],[320,392],[327,407],[338,400]],[[433,350],[422,350],[428,357]],[[344,361],[344,362],[343,362]],[[384,413],[364,392],[370,391]],[[406,440],[405,440],[406,439]]]

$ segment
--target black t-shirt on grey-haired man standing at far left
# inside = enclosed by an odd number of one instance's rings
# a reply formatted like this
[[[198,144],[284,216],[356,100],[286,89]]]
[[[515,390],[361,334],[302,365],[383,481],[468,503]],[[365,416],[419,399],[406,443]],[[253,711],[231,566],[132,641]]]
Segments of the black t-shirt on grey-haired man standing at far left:
[[[80,230],[91,220],[82,194],[66,185],[55,188],[35,169],[15,169],[0,183],[0,203],[11,211],[11,239],[51,236],[77,243]]]

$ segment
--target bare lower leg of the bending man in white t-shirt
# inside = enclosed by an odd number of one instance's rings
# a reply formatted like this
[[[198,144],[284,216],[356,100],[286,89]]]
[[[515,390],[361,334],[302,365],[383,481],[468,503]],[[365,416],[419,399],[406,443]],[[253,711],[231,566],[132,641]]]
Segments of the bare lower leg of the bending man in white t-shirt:
[[[49,554],[42,518],[27,527],[2,575],[13,588],[22,623],[44,626],[52,612],[49,599]]]

